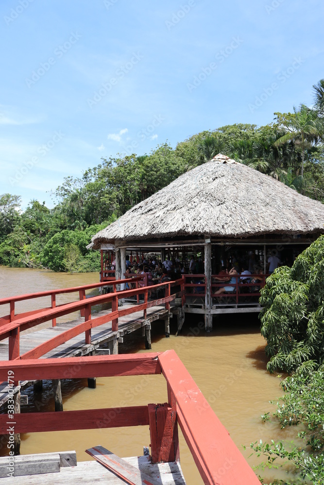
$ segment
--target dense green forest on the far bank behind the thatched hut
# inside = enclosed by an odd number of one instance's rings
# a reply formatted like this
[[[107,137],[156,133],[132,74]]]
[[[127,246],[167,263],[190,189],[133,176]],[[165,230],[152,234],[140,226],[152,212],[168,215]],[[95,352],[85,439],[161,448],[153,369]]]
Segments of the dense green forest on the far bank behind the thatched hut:
[[[269,125],[235,124],[203,131],[172,149],[167,143],[149,155],[102,159],[80,178],[67,177],[53,191],[56,205],[32,200],[20,210],[20,197],[0,197],[0,264],[97,271],[99,257],[88,253],[90,236],[136,203],[193,167],[223,153],[324,202],[324,80],[314,85],[314,108],[275,113]],[[92,233],[92,234],[91,234]],[[71,247],[73,244],[73,258]],[[78,253],[76,247],[79,249]],[[65,259],[65,262],[64,262]]]

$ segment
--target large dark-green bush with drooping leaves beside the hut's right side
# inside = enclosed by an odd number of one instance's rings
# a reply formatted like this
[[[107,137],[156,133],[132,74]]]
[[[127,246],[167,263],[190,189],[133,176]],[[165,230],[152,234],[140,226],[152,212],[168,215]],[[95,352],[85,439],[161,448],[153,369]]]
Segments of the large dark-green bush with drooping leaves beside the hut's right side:
[[[261,290],[261,334],[272,357],[270,372],[292,372],[301,363],[324,358],[324,236],[267,278]]]

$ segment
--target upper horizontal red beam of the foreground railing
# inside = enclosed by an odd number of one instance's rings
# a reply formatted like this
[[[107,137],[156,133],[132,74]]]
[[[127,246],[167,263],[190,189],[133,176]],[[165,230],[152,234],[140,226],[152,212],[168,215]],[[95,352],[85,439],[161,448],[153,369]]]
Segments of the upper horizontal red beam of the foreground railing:
[[[35,379],[80,379],[119,375],[160,374],[159,353],[119,356],[61,357],[13,360],[10,370],[20,381]],[[0,380],[8,378],[8,361],[0,362]]]

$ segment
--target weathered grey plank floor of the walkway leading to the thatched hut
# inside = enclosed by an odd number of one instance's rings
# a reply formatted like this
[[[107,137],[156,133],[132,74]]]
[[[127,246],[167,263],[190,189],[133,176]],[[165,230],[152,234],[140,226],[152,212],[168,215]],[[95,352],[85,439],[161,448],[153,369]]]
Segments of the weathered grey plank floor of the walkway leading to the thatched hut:
[[[124,303],[122,309],[136,306],[136,303]],[[177,308],[174,308],[177,311]],[[101,317],[111,313],[111,309],[103,310],[96,313],[95,316]],[[165,309],[164,305],[158,305],[148,308],[146,319],[143,318],[143,310],[135,311],[129,315],[119,317],[118,331],[112,331],[112,322],[103,323],[102,325],[92,328],[91,330],[91,344],[85,344],[84,334],[80,334],[67,342],[54,348],[42,358],[52,357],[78,357],[85,355],[100,355],[104,354],[118,354],[118,342],[125,335],[135,332],[138,328],[143,329],[143,336],[145,337],[146,348],[151,348],[151,324],[157,320],[164,320],[166,322],[166,332],[169,325],[169,311]],[[34,332],[20,335],[20,353],[24,354],[34,347],[46,342],[47,340],[55,337],[85,321],[84,317],[80,317],[77,320],[67,323],[57,324],[55,327],[48,327],[42,330],[35,330]],[[50,323],[49,323],[50,324]],[[109,346],[109,349],[100,350],[101,345]],[[99,349],[99,350],[98,350]],[[96,352],[97,351],[97,352]],[[9,339],[5,339],[0,342],[0,360],[8,361],[9,355]],[[20,389],[29,387],[33,384],[33,381],[20,382]],[[7,402],[10,394],[8,393],[8,386],[6,382],[0,384],[0,406]]]

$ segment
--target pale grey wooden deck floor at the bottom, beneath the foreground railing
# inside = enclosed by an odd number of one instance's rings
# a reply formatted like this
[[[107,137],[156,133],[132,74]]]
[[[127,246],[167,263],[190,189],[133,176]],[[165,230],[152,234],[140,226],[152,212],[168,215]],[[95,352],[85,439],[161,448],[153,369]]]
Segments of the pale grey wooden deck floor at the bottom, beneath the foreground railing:
[[[54,455],[54,453],[42,453],[36,455],[28,455],[29,460],[48,462],[48,466],[53,469],[53,461],[49,461],[48,455]],[[59,453],[57,453],[59,456]],[[26,461],[28,459],[27,455],[21,455],[15,457],[16,464],[14,468],[18,468],[19,461]],[[3,464],[6,460],[9,463],[9,457],[1,458]],[[134,456],[131,458],[124,458],[124,460],[133,465],[141,472],[152,478],[155,483],[161,485],[186,485],[180,463],[159,463],[154,464],[150,462],[148,456]],[[26,468],[26,470],[28,470]],[[16,485],[122,485],[125,484],[124,480],[118,478],[114,473],[105,469],[96,461],[82,461],[76,466],[60,466],[58,469],[51,473],[33,474],[33,475],[22,475],[13,477],[4,477],[0,479],[1,485],[11,485],[12,483]],[[139,484],[140,485],[140,484]]]

